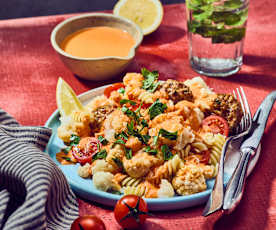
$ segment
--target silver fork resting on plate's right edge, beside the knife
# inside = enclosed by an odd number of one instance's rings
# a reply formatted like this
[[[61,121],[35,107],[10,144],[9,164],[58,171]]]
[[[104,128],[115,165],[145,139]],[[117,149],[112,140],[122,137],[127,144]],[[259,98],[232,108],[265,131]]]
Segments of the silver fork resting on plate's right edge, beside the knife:
[[[235,134],[227,137],[225,141],[225,144],[223,146],[222,153],[220,156],[220,162],[218,167],[218,173],[216,176],[216,181],[212,189],[212,192],[209,196],[208,202],[203,210],[203,214],[202,214],[203,216],[208,216],[222,208],[223,199],[224,199],[224,184],[223,184],[224,160],[225,160],[225,155],[226,155],[228,146],[232,142],[232,140],[237,140],[247,135],[252,127],[251,111],[250,111],[244,90],[242,87],[240,87],[240,89],[236,88],[236,92],[233,91],[233,95],[236,99],[240,101],[243,116],[238,127],[236,127],[235,129]]]

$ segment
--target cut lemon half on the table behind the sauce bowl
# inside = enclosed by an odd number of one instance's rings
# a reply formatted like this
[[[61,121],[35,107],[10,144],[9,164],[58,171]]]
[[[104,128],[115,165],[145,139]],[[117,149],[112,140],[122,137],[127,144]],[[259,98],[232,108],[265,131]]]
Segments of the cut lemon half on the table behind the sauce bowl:
[[[135,22],[147,35],[161,24],[163,6],[159,0],[119,0],[113,13]]]

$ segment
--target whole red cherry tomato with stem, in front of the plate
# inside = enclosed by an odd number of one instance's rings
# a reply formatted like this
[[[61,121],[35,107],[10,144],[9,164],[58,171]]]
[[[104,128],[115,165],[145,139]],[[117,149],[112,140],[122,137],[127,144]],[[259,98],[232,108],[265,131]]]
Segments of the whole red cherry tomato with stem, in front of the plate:
[[[116,221],[127,229],[139,228],[149,215],[147,203],[136,195],[123,196],[114,209]]]

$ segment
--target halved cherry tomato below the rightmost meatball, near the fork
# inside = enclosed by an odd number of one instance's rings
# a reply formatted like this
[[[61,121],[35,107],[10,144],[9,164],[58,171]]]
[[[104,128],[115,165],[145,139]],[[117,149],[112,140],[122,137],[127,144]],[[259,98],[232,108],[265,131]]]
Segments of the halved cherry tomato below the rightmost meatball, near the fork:
[[[202,126],[207,126],[214,134],[220,133],[225,136],[229,134],[229,125],[227,121],[220,116],[210,115],[202,121]]]

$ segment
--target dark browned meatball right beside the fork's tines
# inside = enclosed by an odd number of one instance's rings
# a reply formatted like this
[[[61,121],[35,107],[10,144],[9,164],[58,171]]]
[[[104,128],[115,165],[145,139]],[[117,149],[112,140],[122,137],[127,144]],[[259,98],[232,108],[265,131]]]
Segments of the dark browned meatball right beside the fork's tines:
[[[231,133],[239,125],[243,116],[240,102],[231,94],[218,94],[212,102],[211,113],[227,120]]]

